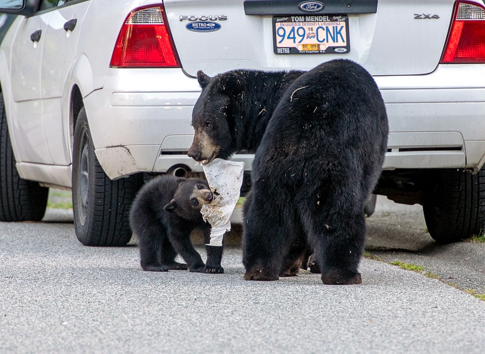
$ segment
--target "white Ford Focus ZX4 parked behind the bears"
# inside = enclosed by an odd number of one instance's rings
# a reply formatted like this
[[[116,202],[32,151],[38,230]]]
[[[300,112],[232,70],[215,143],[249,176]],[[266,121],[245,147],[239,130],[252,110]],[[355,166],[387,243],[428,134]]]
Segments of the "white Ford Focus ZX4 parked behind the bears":
[[[421,203],[439,242],[483,228],[481,0],[0,0],[0,8],[22,15],[0,47],[1,220],[39,220],[49,187],[72,188],[78,239],[126,244],[144,178],[201,172],[186,156],[198,70],[308,70],[347,58],[373,75],[389,115],[375,192]],[[233,157],[247,176],[252,156]]]

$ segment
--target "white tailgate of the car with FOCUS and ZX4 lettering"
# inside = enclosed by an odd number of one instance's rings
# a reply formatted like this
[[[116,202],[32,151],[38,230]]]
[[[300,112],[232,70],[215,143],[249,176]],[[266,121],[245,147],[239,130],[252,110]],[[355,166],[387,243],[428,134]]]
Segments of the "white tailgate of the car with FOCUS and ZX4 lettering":
[[[275,1],[268,3],[275,3],[277,7]],[[200,69],[209,75],[237,68],[309,70],[322,61],[336,58],[354,60],[372,75],[429,73],[440,61],[453,4],[454,0],[379,0],[377,13],[349,15],[349,53],[276,55],[273,53],[272,16],[244,15],[243,1],[164,2],[177,52],[190,75],[196,75]],[[439,18],[415,19],[416,12],[439,14]],[[299,17],[321,13],[325,13],[325,9],[304,13],[295,2],[295,14]],[[180,16],[222,14],[227,20],[213,21],[221,25],[221,29],[214,32],[190,31],[186,25],[196,21],[180,20]]]

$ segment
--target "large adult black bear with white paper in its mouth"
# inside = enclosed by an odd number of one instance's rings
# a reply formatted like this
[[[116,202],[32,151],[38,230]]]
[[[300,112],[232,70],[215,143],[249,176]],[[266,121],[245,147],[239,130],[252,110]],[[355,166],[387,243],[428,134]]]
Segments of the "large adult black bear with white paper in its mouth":
[[[246,280],[298,271],[312,248],[324,284],[360,284],[364,204],[387,145],[372,76],[349,60],[307,71],[198,73],[188,156],[202,163],[255,153],[245,205]]]

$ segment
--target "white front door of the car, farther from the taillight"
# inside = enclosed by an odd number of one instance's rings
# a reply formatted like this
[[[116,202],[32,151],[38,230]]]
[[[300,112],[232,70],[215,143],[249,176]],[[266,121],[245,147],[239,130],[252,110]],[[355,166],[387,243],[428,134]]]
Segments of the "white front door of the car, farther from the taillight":
[[[46,2],[48,3],[48,2]],[[22,17],[12,43],[12,119],[17,161],[52,164],[41,115],[40,63],[51,13]]]

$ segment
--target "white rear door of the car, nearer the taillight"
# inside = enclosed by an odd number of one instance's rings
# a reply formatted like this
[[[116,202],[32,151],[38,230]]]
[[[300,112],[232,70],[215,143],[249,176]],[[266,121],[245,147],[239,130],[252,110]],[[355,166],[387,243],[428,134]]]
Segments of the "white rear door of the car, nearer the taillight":
[[[81,23],[88,0],[59,0],[51,10],[41,66],[42,121],[54,164],[71,163],[69,136],[69,82],[76,59]]]

